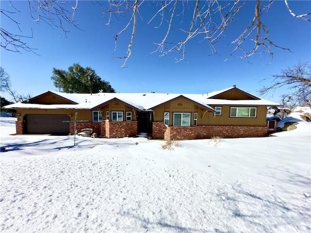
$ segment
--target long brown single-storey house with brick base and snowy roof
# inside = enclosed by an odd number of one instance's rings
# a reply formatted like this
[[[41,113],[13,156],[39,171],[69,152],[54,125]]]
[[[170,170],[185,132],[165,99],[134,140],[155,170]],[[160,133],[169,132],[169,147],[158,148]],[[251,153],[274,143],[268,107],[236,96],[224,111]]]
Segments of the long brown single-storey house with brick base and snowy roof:
[[[74,134],[77,113],[77,132],[90,128],[106,138],[149,133],[186,140],[265,136],[271,128],[267,107],[278,105],[234,85],[206,94],[48,91],[5,108],[17,110],[17,134]]]

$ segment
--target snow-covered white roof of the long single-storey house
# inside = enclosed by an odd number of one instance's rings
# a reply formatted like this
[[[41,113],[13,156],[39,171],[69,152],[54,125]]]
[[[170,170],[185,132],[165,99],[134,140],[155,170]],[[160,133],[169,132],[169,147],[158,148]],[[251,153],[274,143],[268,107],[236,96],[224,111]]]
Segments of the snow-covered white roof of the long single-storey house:
[[[70,100],[74,103],[69,104],[38,104],[19,102],[5,106],[4,108],[28,108],[28,109],[95,109],[96,107],[108,103],[112,100],[121,100],[125,104],[143,111],[153,109],[155,106],[171,101],[178,97],[187,98],[196,102],[201,107],[213,111],[209,105],[253,105],[253,106],[277,106],[278,103],[268,100],[220,100],[210,99],[220,93],[235,87],[230,87],[222,91],[215,91],[209,94],[170,94],[170,93],[96,93],[96,94],[75,94],[49,91],[61,98]],[[34,98],[32,98],[34,99]]]

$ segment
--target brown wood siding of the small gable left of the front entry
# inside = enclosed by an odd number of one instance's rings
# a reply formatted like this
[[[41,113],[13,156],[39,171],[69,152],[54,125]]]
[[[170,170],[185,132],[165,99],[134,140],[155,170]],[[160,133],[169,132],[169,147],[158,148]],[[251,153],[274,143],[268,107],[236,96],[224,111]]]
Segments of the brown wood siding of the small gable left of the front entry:
[[[103,111],[103,120],[106,120],[106,111],[109,111],[109,120],[111,120],[111,112],[123,112],[123,121],[126,121],[126,112],[132,112],[132,120],[137,119],[137,111],[118,100],[113,100],[103,107],[99,107],[98,110]]]

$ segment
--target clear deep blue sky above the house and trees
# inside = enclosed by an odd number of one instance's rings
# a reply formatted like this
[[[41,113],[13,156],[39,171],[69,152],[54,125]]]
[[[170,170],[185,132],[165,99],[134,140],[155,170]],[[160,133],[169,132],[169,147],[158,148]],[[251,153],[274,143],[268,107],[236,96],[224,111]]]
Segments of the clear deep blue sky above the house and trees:
[[[15,53],[1,48],[1,67],[10,74],[12,87],[17,93],[32,96],[56,90],[51,80],[52,68],[67,69],[73,63],[92,67],[102,79],[111,83],[116,92],[121,93],[203,94],[236,84],[244,91],[259,95],[257,90],[262,85],[260,80],[278,74],[281,69],[299,61],[311,60],[311,24],[291,16],[284,1],[274,2],[270,11],[261,17],[269,28],[270,39],[277,45],[293,51],[272,48],[274,58],[271,64],[271,58],[260,52],[250,58],[252,64],[247,63],[245,59],[239,59],[239,53],[224,62],[234,49],[234,46],[228,46],[228,43],[236,39],[254,17],[255,1],[247,3],[225,32],[225,38],[216,44],[215,48],[221,56],[210,56],[211,50],[207,41],[202,40],[202,37],[194,38],[186,45],[187,61],[179,63],[175,63],[174,53],[165,57],[159,57],[159,53],[152,53],[157,48],[154,43],[160,42],[165,36],[167,24],[164,23],[161,28],[155,29],[159,22],[159,18],[156,18],[147,25],[156,10],[146,1],[139,8],[132,58],[128,60],[127,68],[124,69],[121,69],[124,60],[113,57],[126,55],[132,29],[129,28],[118,37],[117,53],[113,55],[113,36],[121,30],[125,21],[114,19],[110,25],[106,25],[108,15],[103,14],[103,9],[98,5],[90,1],[79,1],[74,19],[84,31],[66,25],[70,33],[67,34],[67,38],[62,35],[58,39],[61,30],[52,29],[41,21],[35,22],[30,16],[27,1],[12,3],[20,12],[12,9],[9,1],[1,0],[1,9],[17,12],[12,17],[20,22],[24,35],[31,35],[31,29],[33,30],[34,38],[25,42],[36,48],[40,56],[23,50],[21,53]],[[311,12],[311,1],[289,3],[297,14]],[[71,1],[70,7],[74,5],[75,1]],[[176,42],[178,38],[186,38],[186,34],[182,33],[180,28],[190,23],[191,15],[191,12],[185,14],[182,24],[178,20],[173,22],[174,30],[169,41]],[[20,33],[12,21],[2,15],[1,28]],[[245,45],[249,43],[251,42],[247,41]],[[286,89],[278,90],[273,97],[270,93],[264,98],[278,101],[279,96],[285,92]],[[10,99],[6,94],[2,96]]]

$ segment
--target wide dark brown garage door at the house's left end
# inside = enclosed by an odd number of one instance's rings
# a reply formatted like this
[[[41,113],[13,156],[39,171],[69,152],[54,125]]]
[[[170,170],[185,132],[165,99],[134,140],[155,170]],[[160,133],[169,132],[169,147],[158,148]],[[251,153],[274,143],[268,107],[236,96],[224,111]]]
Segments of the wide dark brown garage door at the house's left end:
[[[35,134],[69,134],[67,115],[31,114],[24,116],[24,132]]]

